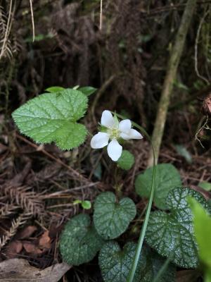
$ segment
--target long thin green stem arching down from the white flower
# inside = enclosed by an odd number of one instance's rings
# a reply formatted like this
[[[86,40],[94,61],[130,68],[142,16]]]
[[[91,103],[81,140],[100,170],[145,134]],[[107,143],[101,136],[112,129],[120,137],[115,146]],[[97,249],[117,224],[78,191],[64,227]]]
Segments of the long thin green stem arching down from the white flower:
[[[116,114],[116,116],[119,117],[119,118],[124,119],[124,116],[122,116],[122,115]],[[144,130],[137,123],[132,122],[132,125],[134,125],[134,127],[138,128],[141,131],[141,133],[143,133],[143,135],[145,135],[147,137],[148,141],[151,142],[151,137],[148,135],[146,130]],[[133,261],[133,264],[132,264],[132,269],[129,271],[129,276],[127,278],[127,282],[133,282],[133,280],[134,280],[134,275],[135,275],[135,272],[136,272],[136,267],[137,267],[137,264],[139,262],[139,257],[140,257],[140,254],[141,254],[141,248],[143,246],[143,238],[144,238],[145,233],[146,233],[146,228],[147,228],[147,225],[148,225],[148,219],[149,219],[149,216],[150,216],[150,213],[151,213],[151,207],[152,207],[152,204],[153,204],[153,196],[154,196],[154,192],[155,192],[155,171],[156,171],[156,166],[155,166],[155,152],[154,152],[154,147],[153,147],[152,142],[151,142],[151,146],[152,146],[152,150],[153,150],[153,179],[152,179],[152,184],[151,184],[151,195],[150,195],[150,198],[149,198],[149,201],[148,201],[148,207],[146,209],[146,216],[145,216],[145,219],[143,221],[143,226],[141,228],[141,233],[140,233],[140,236],[139,236],[139,242],[138,242],[138,245],[136,247],[136,255],[134,257],[134,261]]]

